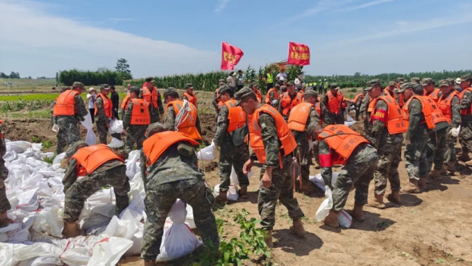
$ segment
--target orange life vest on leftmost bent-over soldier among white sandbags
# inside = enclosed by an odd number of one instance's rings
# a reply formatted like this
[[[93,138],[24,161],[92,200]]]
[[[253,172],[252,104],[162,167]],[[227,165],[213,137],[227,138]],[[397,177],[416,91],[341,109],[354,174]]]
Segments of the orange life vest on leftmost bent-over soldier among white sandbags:
[[[72,158],[77,160],[78,176],[90,175],[96,168],[99,168],[107,161],[119,160],[124,162],[105,144],[80,148],[76,154],[72,155]]]

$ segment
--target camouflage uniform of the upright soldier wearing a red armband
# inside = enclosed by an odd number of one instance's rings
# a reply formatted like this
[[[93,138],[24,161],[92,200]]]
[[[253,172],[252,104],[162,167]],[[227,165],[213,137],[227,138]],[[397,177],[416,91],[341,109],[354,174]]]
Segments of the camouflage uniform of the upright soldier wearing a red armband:
[[[378,100],[374,107],[374,110],[376,109],[382,109],[387,112],[388,105],[384,100]],[[372,123],[371,136],[379,156],[377,168],[373,173],[376,195],[385,194],[387,179],[390,182],[392,191],[400,190],[398,164],[401,161],[403,134],[390,134],[384,122],[375,120]]]

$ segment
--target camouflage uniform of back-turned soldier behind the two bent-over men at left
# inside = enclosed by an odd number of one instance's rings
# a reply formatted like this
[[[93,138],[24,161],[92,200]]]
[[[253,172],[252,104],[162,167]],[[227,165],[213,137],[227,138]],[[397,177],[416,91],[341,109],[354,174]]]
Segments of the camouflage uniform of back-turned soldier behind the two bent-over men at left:
[[[136,143],[138,150],[142,148],[142,142],[146,139],[147,125],[131,125],[131,113],[133,113],[133,101],[130,100],[128,108],[123,116],[123,128],[126,130],[126,141],[124,144],[124,151],[129,154],[133,150]]]

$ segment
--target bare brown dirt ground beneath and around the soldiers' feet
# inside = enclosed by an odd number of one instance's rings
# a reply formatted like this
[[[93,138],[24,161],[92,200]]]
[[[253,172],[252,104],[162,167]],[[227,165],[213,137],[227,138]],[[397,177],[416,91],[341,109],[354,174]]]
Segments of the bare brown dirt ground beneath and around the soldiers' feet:
[[[214,115],[203,115],[201,121],[208,144],[213,136]],[[31,141],[35,136],[40,141],[56,144],[47,119],[7,118],[5,122],[3,133],[7,139]],[[362,125],[357,123],[357,127],[362,128]],[[218,154],[217,151],[215,158]],[[208,184],[218,184],[217,159],[200,163],[205,168]],[[364,207],[366,220],[353,222],[350,229],[331,229],[314,219],[324,199],[321,191],[312,195],[296,193],[306,215],[303,222],[307,236],[297,238],[290,233],[287,209],[278,205],[272,262],[276,265],[472,265],[472,171],[462,163],[457,169],[460,172],[455,175],[431,181],[424,193],[401,195],[402,206],[387,203],[385,210]],[[407,173],[403,161],[398,170],[405,184]],[[232,225],[233,213],[246,209],[250,213],[248,218],[259,218],[259,168],[253,167],[253,172],[249,198],[215,212],[218,218],[227,221],[222,238],[239,236],[239,227]],[[317,172],[319,170],[312,166],[310,174]],[[369,196],[373,195],[373,184],[370,190]],[[353,193],[349,195],[346,209],[352,207]],[[122,258],[119,265],[137,266],[144,262],[139,257],[129,257]],[[246,265],[257,264],[248,261]]]

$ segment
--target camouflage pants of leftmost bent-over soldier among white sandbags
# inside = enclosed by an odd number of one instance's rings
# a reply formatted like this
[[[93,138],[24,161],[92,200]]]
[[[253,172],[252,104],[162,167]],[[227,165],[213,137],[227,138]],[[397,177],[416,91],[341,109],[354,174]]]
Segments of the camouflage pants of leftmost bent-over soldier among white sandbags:
[[[92,172],[92,174],[76,180],[65,192],[64,220],[78,220],[85,199],[106,185],[112,186],[115,191],[117,201],[115,213],[119,214],[126,209],[129,204],[130,183],[126,177],[126,166],[120,165],[103,172]]]

